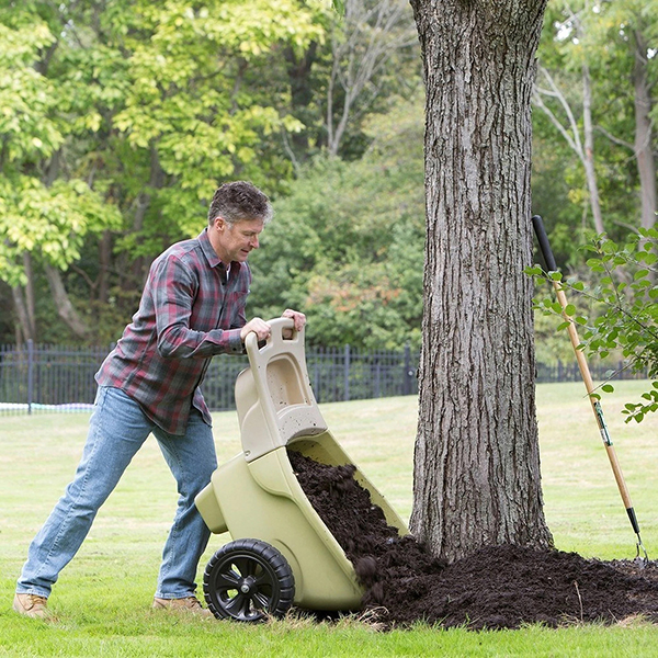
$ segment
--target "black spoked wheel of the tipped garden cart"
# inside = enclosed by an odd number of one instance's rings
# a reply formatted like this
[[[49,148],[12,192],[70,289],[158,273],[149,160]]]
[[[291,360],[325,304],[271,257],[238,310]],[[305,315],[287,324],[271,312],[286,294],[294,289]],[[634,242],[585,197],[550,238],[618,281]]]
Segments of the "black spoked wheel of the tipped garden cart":
[[[238,540],[219,548],[208,561],[203,591],[217,619],[259,622],[286,613],[293,604],[295,579],[274,546]]]

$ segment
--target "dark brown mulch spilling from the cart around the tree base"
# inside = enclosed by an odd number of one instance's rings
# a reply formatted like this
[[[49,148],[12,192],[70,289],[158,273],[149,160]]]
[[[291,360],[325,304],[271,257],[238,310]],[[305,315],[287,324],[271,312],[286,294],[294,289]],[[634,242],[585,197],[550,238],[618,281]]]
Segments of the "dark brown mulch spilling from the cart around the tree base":
[[[364,587],[364,610],[387,627],[424,621],[443,627],[518,628],[543,623],[658,621],[658,563],[601,561],[576,553],[490,546],[452,565],[387,525],[353,478],[354,466],[327,466],[290,452],[307,498]]]

